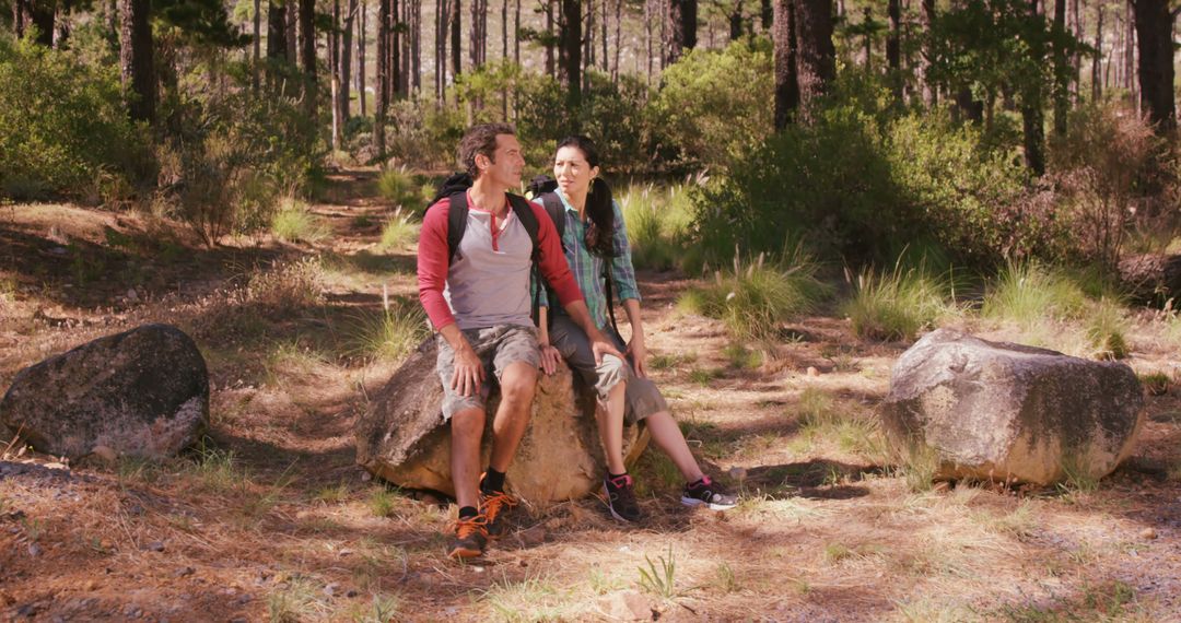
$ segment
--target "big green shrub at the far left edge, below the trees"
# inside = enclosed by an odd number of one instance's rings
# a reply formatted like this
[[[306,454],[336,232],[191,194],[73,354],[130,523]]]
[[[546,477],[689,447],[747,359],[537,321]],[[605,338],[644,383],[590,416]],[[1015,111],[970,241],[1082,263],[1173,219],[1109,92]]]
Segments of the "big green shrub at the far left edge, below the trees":
[[[148,135],[128,120],[117,66],[4,37],[0,84],[0,195],[102,198],[100,186],[151,173]]]

